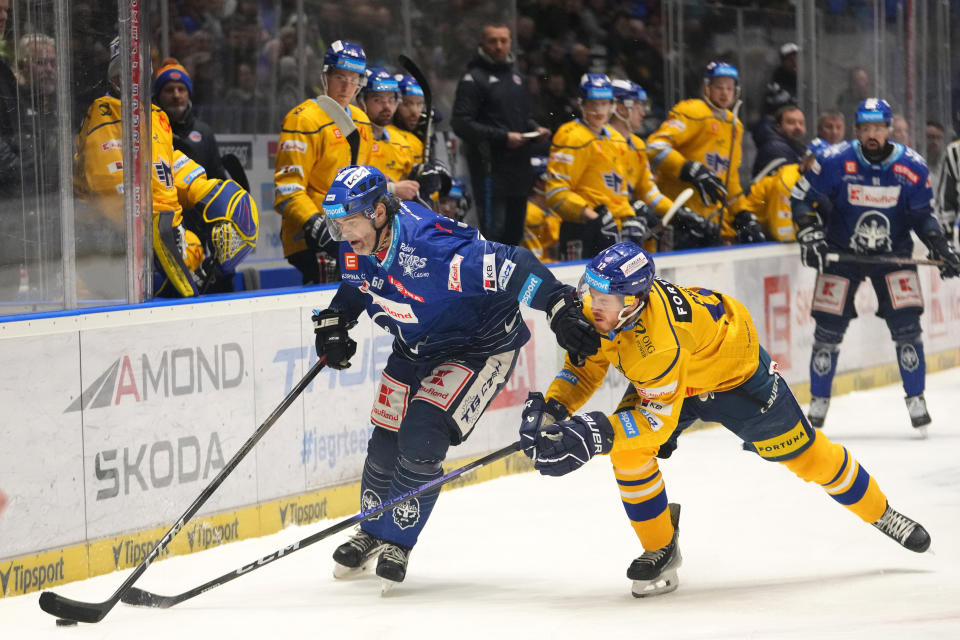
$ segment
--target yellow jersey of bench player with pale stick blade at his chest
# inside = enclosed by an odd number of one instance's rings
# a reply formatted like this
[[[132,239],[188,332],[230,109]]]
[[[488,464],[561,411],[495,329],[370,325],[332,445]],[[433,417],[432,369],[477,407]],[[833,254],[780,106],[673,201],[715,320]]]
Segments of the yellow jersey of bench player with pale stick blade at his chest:
[[[360,107],[349,105],[348,110],[360,132],[357,164],[368,164],[373,146],[370,120]],[[316,100],[302,102],[283,119],[273,174],[273,208],[283,218],[280,240],[284,256],[307,248],[303,223],[320,212],[337,172],[349,164],[346,136]]]

